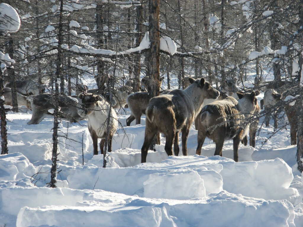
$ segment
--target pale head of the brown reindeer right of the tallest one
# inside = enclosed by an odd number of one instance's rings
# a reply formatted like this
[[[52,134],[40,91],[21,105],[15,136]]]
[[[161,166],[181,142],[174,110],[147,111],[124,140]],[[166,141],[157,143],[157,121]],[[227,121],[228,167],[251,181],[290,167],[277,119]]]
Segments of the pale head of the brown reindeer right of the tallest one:
[[[243,113],[246,114],[254,114],[256,107],[257,107],[257,101],[258,98],[256,95],[260,94],[258,90],[252,91],[251,93],[240,93],[237,92],[237,95],[239,97],[238,100],[238,107]]]

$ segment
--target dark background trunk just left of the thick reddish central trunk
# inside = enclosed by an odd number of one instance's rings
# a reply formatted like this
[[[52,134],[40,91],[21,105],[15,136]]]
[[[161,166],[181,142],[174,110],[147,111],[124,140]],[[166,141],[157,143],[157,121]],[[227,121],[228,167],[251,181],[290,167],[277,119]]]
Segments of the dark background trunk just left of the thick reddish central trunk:
[[[136,31],[137,34],[135,36],[136,39],[136,45],[138,46],[141,41],[142,41],[142,20],[143,20],[143,16],[142,16],[142,5],[138,5],[137,6],[137,17],[136,17]],[[135,56],[135,64],[134,64],[134,81],[132,84],[133,87],[133,92],[137,92],[140,90],[140,72],[141,72],[141,54],[137,54]]]

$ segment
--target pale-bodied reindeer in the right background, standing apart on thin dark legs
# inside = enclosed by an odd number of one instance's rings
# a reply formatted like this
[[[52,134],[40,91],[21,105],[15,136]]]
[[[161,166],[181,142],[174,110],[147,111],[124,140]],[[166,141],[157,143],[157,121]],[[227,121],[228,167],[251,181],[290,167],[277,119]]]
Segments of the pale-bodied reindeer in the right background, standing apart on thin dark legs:
[[[275,106],[278,102],[278,100],[281,99],[281,94],[279,94],[277,91],[274,89],[268,89],[264,93],[264,98],[263,98],[263,105],[264,105],[264,110],[265,110],[265,127],[269,126],[269,120],[270,120],[270,114],[271,114],[271,108]],[[274,128],[278,128],[278,113],[274,111],[273,113],[274,117]]]

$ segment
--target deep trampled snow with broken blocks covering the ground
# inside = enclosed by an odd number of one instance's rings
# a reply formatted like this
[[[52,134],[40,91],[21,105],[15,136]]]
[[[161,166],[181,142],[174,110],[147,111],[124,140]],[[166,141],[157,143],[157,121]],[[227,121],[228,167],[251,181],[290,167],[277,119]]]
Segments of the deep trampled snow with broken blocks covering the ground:
[[[52,189],[46,184],[53,119],[27,125],[30,113],[9,113],[9,154],[0,156],[0,226],[303,226],[303,183],[289,128],[263,144],[273,132],[263,126],[256,148],[240,144],[235,163],[232,140],[223,157],[213,156],[209,139],[202,156],[195,155],[192,127],[188,156],[168,157],[161,138],[141,164],[145,117],[142,125],[126,127],[128,116],[118,116],[107,168],[102,155],[93,156],[87,122],[62,120],[58,187]]]

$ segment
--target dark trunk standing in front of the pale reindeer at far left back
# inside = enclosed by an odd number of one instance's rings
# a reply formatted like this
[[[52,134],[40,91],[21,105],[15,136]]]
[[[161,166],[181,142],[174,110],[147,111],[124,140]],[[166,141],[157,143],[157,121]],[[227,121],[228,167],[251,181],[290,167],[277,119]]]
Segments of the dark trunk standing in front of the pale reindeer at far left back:
[[[8,55],[11,59],[14,59],[14,45],[13,38],[10,36],[8,38]],[[12,103],[14,112],[19,112],[18,109],[18,100],[17,100],[17,89],[16,89],[16,77],[15,77],[15,69],[13,67],[7,68],[8,78],[12,84]]]

